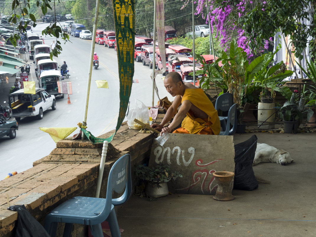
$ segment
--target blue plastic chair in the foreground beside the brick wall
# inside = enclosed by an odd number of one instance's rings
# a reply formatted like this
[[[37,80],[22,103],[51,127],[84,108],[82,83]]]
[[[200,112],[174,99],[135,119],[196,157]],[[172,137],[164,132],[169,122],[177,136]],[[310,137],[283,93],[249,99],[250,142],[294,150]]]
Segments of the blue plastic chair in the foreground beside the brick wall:
[[[103,237],[101,223],[108,221],[112,236],[121,236],[114,205],[125,203],[131,196],[131,188],[131,155],[125,154],[110,170],[106,198],[76,196],[67,200],[46,216],[45,229],[50,236],[56,236],[58,222],[66,223],[63,236],[70,237],[72,225],[77,223],[89,225],[94,237]],[[112,199],[113,191],[124,193]]]

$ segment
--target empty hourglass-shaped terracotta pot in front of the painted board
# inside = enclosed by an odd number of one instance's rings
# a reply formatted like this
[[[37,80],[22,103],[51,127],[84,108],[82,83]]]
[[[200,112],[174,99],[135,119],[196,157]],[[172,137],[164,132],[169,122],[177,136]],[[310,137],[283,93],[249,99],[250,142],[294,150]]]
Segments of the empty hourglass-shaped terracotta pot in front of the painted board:
[[[232,179],[235,176],[234,172],[229,171],[216,171],[213,173],[218,188],[216,194],[213,196],[217,201],[230,201],[235,197],[232,195]]]

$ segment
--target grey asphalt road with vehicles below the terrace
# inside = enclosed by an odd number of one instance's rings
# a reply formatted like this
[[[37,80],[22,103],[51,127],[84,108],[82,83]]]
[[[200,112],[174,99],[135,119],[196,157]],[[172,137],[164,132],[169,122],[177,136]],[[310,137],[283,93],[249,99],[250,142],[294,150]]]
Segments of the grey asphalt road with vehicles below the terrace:
[[[41,33],[48,23],[38,24],[33,32]],[[44,37],[45,44],[50,45],[53,38]],[[56,40],[56,39],[55,39]],[[70,77],[65,79],[72,83],[71,104],[67,104],[67,95],[64,99],[56,99],[57,109],[48,109],[44,112],[42,120],[35,117],[22,118],[19,122],[19,130],[15,139],[9,137],[0,138],[0,180],[12,171],[22,172],[33,166],[33,161],[48,155],[56,144],[49,134],[40,131],[39,127],[77,127],[78,122],[84,118],[84,107],[87,94],[89,56],[91,53],[91,40],[82,40],[70,36],[70,42],[62,44],[63,51],[56,59],[59,65],[66,61]],[[94,52],[99,55],[100,66],[97,70],[92,68],[91,88],[89,93],[87,130],[94,136],[99,136],[113,130],[117,124],[119,115],[119,76],[116,51],[104,45],[95,44]],[[23,55],[24,56],[24,55]],[[32,60],[29,78],[37,82]],[[134,79],[130,97],[130,108],[135,108],[136,99],[146,106],[152,104],[152,70],[148,65],[135,61]],[[160,98],[167,95],[163,86],[162,75],[156,77],[156,83]],[[107,80],[109,89],[97,89],[95,80]],[[37,85],[38,86],[38,85]],[[169,95],[169,99],[171,96]],[[172,100],[172,99],[171,99]],[[158,97],[155,95],[155,104]],[[73,133],[79,131],[79,128]],[[73,135],[71,134],[71,135]]]

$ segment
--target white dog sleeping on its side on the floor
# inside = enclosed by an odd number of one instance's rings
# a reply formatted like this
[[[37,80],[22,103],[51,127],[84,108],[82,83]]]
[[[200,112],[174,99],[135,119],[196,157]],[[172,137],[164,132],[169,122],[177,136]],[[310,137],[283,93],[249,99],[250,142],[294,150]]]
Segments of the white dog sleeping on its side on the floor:
[[[278,150],[265,143],[257,143],[255,158],[252,165],[257,165],[260,162],[272,162],[281,165],[286,165],[294,160],[291,159],[290,154],[284,150]]]

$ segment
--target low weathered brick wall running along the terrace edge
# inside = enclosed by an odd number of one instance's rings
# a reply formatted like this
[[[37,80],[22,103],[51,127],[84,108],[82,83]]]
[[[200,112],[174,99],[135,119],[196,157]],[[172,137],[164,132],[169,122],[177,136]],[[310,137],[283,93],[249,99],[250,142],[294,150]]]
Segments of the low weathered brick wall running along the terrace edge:
[[[106,138],[113,131],[101,135]],[[131,168],[149,159],[154,134],[141,134],[122,126],[109,144],[100,197],[105,197],[108,172],[122,155],[130,153]],[[0,236],[11,237],[17,213],[9,205],[24,204],[40,223],[57,205],[73,196],[94,196],[100,166],[102,145],[86,140],[65,139],[56,144],[48,156],[37,160],[33,167],[0,181]],[[132,171],[133,175],[133,171]],[[134,178],[133,178],[134,179]],[[62,236],[63,225],[58,225]],[[87,236],[87,227],[74,225],[72,236]]]

